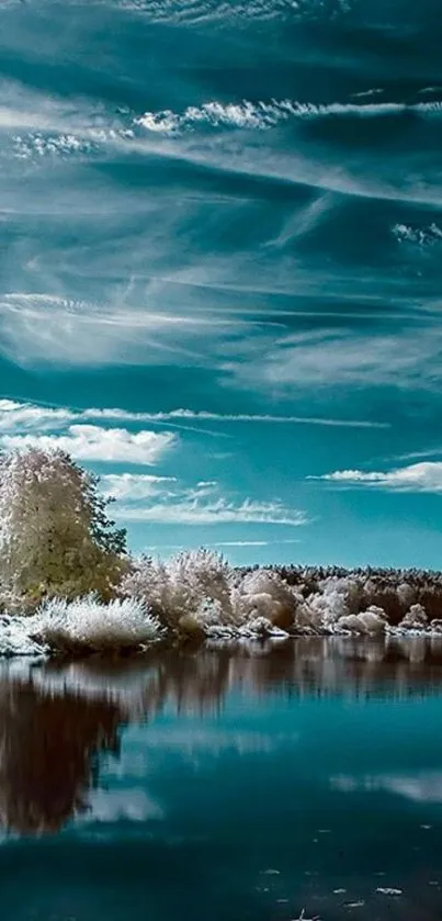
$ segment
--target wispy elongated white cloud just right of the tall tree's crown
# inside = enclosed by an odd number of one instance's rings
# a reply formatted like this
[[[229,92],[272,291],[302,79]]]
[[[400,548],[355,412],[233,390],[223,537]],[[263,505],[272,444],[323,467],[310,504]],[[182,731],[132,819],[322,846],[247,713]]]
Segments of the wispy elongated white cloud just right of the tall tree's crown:
[[[191,494],[178,495],[172,502],[158,502],[152,505],[116,506],[114,517],[125,521],[150,521],[160,525],[222,525],[222,524],[260,524],[291,525],[297,527],[307,524],[304,512],[287,508],[280,502],[257,502],[247,498],[239,504],[223,496],[204,502]]]

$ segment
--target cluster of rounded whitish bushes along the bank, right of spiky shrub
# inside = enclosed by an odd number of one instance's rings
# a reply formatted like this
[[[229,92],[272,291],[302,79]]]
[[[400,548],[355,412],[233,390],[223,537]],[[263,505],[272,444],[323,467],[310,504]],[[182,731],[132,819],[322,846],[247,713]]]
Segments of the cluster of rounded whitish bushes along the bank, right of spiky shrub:
[[[253,622],[304,632],[385,630],[385,614],[373,606],[358,611],[363,585],[349,577],[331,576],[305,600],[274,571],[247,573],[229,570],[216,553],[181,553],[169,562],[144,559],[126,576],[123,592],[143,598],[168,627],[180,630],[185,620],[206,634],[218,628],[249,628]],[[355,620],[352,618],[356,618]],[[359,618],[359,619],[358,619]],[[265,632],[268,628],[262,628]],[[258,627],[253,628],[259,632]],[[253,632],[253,631],[252,631]]]

